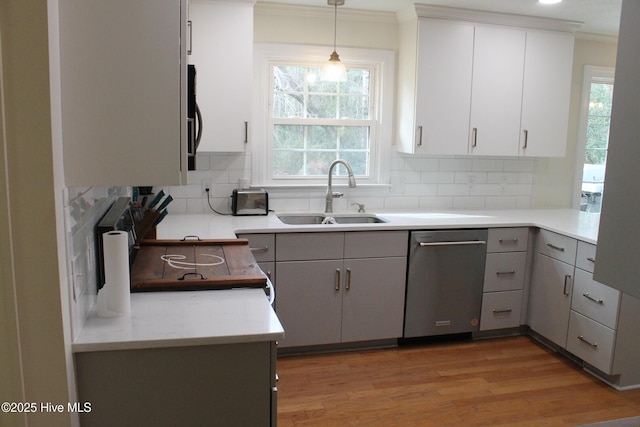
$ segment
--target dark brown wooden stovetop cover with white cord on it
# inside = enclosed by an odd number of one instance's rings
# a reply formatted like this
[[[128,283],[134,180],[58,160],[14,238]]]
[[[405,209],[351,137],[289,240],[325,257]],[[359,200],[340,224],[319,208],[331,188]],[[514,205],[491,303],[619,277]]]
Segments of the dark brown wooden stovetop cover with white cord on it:
[[[266,285],[246,239],[143,240],[131,267],[131,292]]]

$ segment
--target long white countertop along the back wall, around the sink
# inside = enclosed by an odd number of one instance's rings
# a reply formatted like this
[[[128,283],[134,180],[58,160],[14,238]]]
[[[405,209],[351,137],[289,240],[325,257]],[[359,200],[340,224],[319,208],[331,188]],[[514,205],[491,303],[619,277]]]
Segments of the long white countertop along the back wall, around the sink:
[[[353,213],[353,212],[351,212]],[[376,224],[287,225],[277,213],[235,217],[211,214],[168,215],[158,226],[159,239],[198,235],[203,239],[234,238],[240,233],[325,232],[358,230],[420,230],[475,227],[540,227],[596,243],[600,215],[575,209],[482,211],[372,211],[387,222]]]

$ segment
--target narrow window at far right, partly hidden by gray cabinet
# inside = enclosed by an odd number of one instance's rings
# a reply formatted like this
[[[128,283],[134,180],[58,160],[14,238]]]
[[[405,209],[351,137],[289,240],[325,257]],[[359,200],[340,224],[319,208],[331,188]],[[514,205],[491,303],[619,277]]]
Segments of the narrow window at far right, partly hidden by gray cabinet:
[[[584,70],[576,181],[580,210],[586,212],[599,213],[602,206],[613,76],[612,68],[586,66]]]

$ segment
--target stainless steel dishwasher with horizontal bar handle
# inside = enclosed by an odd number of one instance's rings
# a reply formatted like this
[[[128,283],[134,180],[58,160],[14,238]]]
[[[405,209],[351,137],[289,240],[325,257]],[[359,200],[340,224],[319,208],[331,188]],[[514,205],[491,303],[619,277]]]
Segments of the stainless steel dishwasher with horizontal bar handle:
[[[478,330],[487,230],[414,231],[404,337]]]

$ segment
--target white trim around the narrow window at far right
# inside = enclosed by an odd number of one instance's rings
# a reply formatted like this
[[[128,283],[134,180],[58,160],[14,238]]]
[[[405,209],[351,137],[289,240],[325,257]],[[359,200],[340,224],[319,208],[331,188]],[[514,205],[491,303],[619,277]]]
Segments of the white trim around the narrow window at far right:
[[[573,178],[573,202],[574,209],[580,209],[582,195],[582,171],[584,156],[587,146],[587,120],[589,116],[589,96],[591,95],[591,83],[597,80],[611,81],[615,76],[615,68],[585,65],[582,72],[582,96],[580,99],[580,120],[578,125],[578,140],[576,142],[575,173]]]

